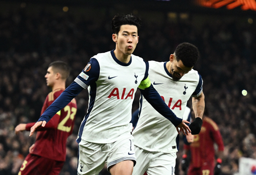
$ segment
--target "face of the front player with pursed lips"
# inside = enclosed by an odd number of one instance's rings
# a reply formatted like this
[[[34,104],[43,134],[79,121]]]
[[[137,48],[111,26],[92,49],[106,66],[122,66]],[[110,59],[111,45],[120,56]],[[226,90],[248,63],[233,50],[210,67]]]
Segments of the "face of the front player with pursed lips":
[[[125,55],[131,55],[134,51],[138,41],[138,29],[135,25],[121,25],[120,31],[116,36],[116,41],[118,49]]]

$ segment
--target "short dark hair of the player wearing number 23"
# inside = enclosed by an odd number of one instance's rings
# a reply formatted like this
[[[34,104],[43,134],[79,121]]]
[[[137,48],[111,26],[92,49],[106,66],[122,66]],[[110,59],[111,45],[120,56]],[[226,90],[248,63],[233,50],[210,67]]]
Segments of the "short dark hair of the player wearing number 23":
[[[49,64],[49,67],[52,67],[54,73],[60,73],[61,78],[66,80],[70,73],[70,67],[67,63],[63,61],[53,61]]]

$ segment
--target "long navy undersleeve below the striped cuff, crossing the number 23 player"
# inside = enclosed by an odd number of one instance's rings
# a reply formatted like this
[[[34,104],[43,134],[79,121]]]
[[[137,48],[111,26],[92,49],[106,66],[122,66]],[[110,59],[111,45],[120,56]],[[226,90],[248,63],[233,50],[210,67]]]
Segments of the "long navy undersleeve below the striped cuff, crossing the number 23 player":
[[[62,108],[67,106],[69,102],[71,102],[72,99],[75,98],[81,91],[83,90],[83,87],[81,87],[76,82],[71,83],[69,87],[63,91],[60,96],[54,100],[54,102],[45,110],[45,112],[42,114],[42,116],[39,118],[39,121],[46,121],[49,122],[49,120]]]

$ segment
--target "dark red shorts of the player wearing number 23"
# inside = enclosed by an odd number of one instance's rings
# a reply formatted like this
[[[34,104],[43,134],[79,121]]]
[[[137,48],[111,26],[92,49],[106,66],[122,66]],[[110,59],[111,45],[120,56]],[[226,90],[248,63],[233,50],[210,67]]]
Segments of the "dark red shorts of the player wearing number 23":
[[[38,155],[26,156],[18,175],[59,175],[64,162]]]

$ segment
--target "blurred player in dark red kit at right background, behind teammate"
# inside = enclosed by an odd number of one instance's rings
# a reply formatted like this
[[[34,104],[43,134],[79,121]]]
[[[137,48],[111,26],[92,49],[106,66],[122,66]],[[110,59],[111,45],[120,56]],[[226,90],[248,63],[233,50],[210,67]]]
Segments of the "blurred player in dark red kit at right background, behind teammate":
[[[188,175],[219,175],[223,156],[223,140],[217,124],[207,117],[204,111],[203,125],[198,135],[194,135],[193,143],[184,144],[182,156],[182,170],[187,170]],[[188,136],[191,138],[191,136]],[[214,143],[218,145],[217,160],[215,164]],[[190,151],[191,160],[188,163],[187,154]],[[189,167],[188,167],[189,164]]]

